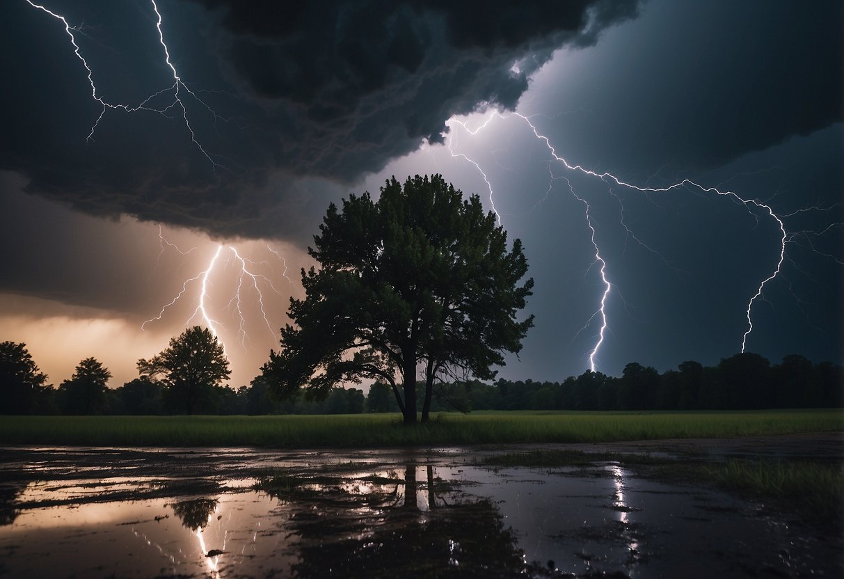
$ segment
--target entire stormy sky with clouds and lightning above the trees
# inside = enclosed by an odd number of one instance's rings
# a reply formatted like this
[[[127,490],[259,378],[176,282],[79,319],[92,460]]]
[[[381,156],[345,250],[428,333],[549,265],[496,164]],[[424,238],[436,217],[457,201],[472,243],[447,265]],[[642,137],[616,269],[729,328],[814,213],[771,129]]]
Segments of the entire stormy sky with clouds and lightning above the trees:
[[[844,361],[841,3],[284,4],[0,6],[0,340],[51,383],[198,323],[247,384],[328,203],[431,173],[524,243],[500,376]]]

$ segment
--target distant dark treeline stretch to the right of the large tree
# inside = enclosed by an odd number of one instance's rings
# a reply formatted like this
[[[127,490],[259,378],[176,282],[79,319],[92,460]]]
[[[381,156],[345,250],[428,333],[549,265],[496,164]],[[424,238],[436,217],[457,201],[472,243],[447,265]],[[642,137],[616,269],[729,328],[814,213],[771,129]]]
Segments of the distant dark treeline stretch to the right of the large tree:
[[[449,398],[469,409],[691,410],[840,408],[844,368],[788,355],[781,364],[759,354],[736,354],[717,366],[695,361],[660,374],[631,363],[620,377],[585,371],[562,382],[507,381],[451,384]]]

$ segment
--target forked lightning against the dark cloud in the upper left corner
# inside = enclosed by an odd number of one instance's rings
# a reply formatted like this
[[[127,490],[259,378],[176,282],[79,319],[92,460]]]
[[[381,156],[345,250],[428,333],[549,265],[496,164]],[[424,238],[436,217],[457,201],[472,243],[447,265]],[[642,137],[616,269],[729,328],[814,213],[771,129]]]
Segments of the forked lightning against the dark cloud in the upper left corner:
[[[167,118],[170,118],[170,116],[169,116],[170,110],[178,109],[179,111],[181,111],[181,118],[185,123],[185,127],[187,128],[187,132],[191,136],[192,144],[194,146],[196,146],[197,149],[208,160],[208,162],[211,163],[211,166],[214,169],[214,173],[216,174],[217,169],[219,169],[222,165],[219,165],[219,163],[215,162],[214,159],[211,158],[211,155],[208,154],[208,151],[203,147],[203,144],[200,143],[197,140],[196,133],[194,132],[193,127],[191,125],[191,122],[188,119],[187,106],[185,106],[185,102],[182,100],[181,92],[185,91],[185,92],[187,92],[187,94],[191,95],[195,100],[197,100],[198,103],[200,103],[206,110],[208,110],[212,115],[214,115],[215,121],[217,119],[221,118],[221,117],[219,117],[217,115],[217,113],[215,113],[214,110],[210,106],[208,106],[207,103],[205,103],[205,101],[200,99],[197,96],[197,94],[194,91],[192,91],[187,86],[187,84],[184,83],[184,81],[182,81],[181,77],[179,76],[179,73],[176,71],[176,67],[173,65],[172,62],[170,62],[170,48],[167,46],[167,43],[166,43],[165,38],[164,38],[164,30],[162,30],[162,27],[161,27],[162,26],[162,17],[161,17],[161,13],[159,11],[159,8],[158,8],[158,4],[155,3],[155,0],[150,0],[150,3],[152,3],[152,7],[153,7],[153,10],[155,12],[155,16],[157,17],[157,21],[155,23],[155,28],[158,31],[158,38],[159,38],[159,42],[161,44],[161,47],[164,49],[165,63],[167,65],[167,67],[170,68],[170,72],[173,75],[173,84],[169,87],[166,87],[165,89],[160,89],[160,90],[152,93],[146,99],[142,100],[140,102],[140,104],[138,104],[136,106],[130,106],[130,105],[123,104],[123,103],[112,103],[112,102],[109,102],[108,100],[105,100],[103,97],[101,97],[98,94],[97,85],[94,82],[94,70],[90,67],[89,62],[82,55],[82,49],[79,47],[79,45],[76,41],[76,35],[74,35],[74,32],[80,32],[80,29],[79,29],[78,26],[71,26],[70,23],[68,23],[68,19],[66,19],[64,16],[51,11],[49,8],[46,8],[45,6],[43,6],[41,4],[33,2],[33,0],[24,0],[24,1],[28,4],[30,4],[31,7],[38,8],[39,10],[45,12],[46,14],[49,14],[54,19],[60,20],[62,22],[62,24],[64,24],[65,34],[68,35],[68,38],[70,39],[70,43],[73,45],[73,53],[78,58],[79,62],[82,62],[82,66],[85,68],[85,71],[87,72],[88,83],[91,87],[91,98],[96,100],[102,106],[102,110],[100,111],[100,116],[97,117],[96,121],[91,126],[91,130],[90,130],[90,133],[88,133],[87,140],[91,141],[91,140],[94,139],[94,133],[96,132],[97,127],[99,127],[100,121],[102,120],[103,116],[105,116],[106,111],[108,111],[110,109],[112,111],[121,110],[121,111],[125,111],[127,113],[133,113],[133,112],[138,112],[138,111],[150,111],[150,112],[159,113],[160,115],[166,116]],[[151,105],[151,102],[153,100],[155,100],[156,97],[158,97],[159,95],[163,95],[165,93],[168,93],[168,92],[172,92],[172,94],[173,94],[173,96],[172,96],[173,100],[171,100],[169,104],[167,104],[163,108],[155,108],[154,106]]]

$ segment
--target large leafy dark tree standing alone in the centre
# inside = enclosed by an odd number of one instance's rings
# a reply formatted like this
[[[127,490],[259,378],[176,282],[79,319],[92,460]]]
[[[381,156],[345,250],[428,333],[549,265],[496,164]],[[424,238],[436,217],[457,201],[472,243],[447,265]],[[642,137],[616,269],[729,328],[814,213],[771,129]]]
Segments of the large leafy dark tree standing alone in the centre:
[[[281,330],[264,378],[282,395],[300,387],[327,395],[340,381],[364,378],[392,387],[405,424],[417,419],[416,380],[425,376],[422,419],[441,376],[495,376],[504,353],[518,352],[533,316],[517,320],[533,279],[522,281],[522,243],[507,251],[495,214],[477,195],[441,176],[395,178],[381,196],[333,203],[302,270],[304,300],[290,299],[295,326]]]

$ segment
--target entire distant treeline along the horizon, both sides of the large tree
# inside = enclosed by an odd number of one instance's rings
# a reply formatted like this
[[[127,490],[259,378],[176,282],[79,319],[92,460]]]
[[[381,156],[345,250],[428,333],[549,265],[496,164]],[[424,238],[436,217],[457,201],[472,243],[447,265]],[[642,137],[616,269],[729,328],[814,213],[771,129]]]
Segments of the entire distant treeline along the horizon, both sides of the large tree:
[[[418,388],[419,397],[424,388]],[[844,368],[814,364],[800,355],[781,364],[759,354],[736,354],[716,366],[684,362],[660,374],[631,363],[619,377],[585,371],[562,382],[498,380],[441,383],[432,411],[459,410],[684,410],[841,408]],[[180,392],[161,381],[136,378],[122,387],[90,387],[65,381],[41,387],[26,406],[0,414],[180,414]],[[8,400],[7,400],[8,402]],[[419,401],[421,404],[421,400]],[[398,412],[387,384],[376,382],[367,395],[358,388],[333,388],[323,400],[297,394],[279,400],[259,378],[237,389],[209,387],[195,414],[360,414]]]

